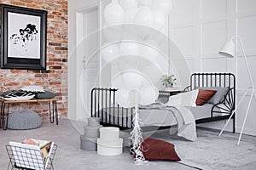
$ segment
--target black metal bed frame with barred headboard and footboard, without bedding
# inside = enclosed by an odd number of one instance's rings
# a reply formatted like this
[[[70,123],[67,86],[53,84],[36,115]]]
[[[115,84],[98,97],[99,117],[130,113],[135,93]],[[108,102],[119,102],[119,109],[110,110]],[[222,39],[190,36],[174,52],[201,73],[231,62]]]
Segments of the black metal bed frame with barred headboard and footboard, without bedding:
[[[195,122],[199,124],[229,119],[236,105],[236,77],[232,73],[194,73],[190,77],[189,87],[185,88],[184,91],[199,87],[229,88],[229,91],[225,94],[224,99],[220,103],[212,106],[210,117],[199,119]],[[134,108],[122,108],[115,104],[115,93],[117,90],[118,89],[115,88],[93,88],[90,96],[90,116],[100,117],[102,126],[119,127],[122,130],[130,129],[132,125],[128,122],[132,122]],[[117,111],[114,107],[117,107]],[[112,114],[108,114],[107,111],[103,111],[102,108],[107,108],[105,110],[108,110],[108,113]],[[219,111],[219,109],[221,109],[221,111]],[[223,115],[219,116],[219,113]],[[218,114],[218,116],[214,116],[216,114]],[[235,133],[235,114],[232,118],[233,132]]]

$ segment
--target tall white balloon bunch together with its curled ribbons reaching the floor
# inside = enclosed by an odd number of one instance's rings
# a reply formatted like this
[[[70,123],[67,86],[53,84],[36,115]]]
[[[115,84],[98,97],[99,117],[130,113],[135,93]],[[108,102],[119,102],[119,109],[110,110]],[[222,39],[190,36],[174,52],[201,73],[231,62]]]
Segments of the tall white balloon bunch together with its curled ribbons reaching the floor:
[[[135,41],[126,41],[123,32],[118,29],[105,29],[104,36],[108,42],[102,45],[101,55],[105,63],[117,61],[119,74],[113,77],[112,87],[119,88],[116,101],[125,108],[135,107],[133,120],[132,150],[136,154],[136,164],[145,161],[141,144],[143,143],[142,129],[139,126],[138,105],[149,105],[158,98],[158,88],[154,86],[154,75],[146,71],[158,68],[154,61],[160,56],[158,44],[150,40],[150,33],[145,27],[154,32],[160,32],[166,25],[166,17],[171,10],[171,0],[113,0],[103,11],[104,26],[114,27],[124,25],[126,35],[139,37]],[[136,28],[127,25],[137,26]],[[148,66],[149,65],[149,66]]]

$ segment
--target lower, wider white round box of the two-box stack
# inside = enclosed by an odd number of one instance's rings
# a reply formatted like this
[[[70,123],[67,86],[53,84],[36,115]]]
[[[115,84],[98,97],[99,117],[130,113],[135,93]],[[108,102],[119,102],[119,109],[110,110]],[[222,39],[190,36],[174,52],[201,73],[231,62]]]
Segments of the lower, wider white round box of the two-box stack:
[[[123,139],[104,141],[97,139],[97,153],[101,156],[118,156],[123,152]]]

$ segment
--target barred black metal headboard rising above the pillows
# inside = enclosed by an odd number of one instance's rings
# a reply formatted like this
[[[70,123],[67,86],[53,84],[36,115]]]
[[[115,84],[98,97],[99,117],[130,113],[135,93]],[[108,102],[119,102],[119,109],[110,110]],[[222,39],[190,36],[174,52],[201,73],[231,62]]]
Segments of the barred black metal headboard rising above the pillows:
[[[194,73],[190,77],[190,90],[197,87],[236,88],[236,77],[232,73]]]

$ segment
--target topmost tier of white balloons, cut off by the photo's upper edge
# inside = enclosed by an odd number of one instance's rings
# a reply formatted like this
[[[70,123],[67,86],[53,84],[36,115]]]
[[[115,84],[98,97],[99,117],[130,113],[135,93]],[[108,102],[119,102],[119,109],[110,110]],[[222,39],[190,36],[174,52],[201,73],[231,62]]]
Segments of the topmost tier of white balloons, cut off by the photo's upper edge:
[[[108,26],[137,24],[160,31],[171,8],[171,0],[113,0],[103,17]]]

